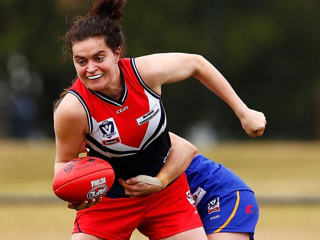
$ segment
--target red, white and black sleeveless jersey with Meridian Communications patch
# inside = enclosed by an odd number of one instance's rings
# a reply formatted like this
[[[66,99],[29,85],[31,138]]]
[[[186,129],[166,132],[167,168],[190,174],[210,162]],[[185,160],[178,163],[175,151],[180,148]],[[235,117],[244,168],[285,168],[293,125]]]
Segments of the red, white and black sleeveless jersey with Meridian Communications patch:
[[[78,79],[68,93],[84,106],[91,156],[108,161],[117,177],[156,175],[171,147],[160,96],[141,79],[134,58],[118,63],[123,81],[119,100],[87,88]]]

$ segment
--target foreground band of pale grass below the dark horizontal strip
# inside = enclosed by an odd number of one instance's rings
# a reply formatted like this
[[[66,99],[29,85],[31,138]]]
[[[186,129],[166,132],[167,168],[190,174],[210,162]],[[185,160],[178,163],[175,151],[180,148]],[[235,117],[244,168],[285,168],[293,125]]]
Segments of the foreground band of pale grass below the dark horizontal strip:
[[[64,204],[0,205],[1,240],[70,240],[75,211]],[[320,206],[260,206],[256,240],[318,240]],[[146,240],[134,232],[131,240]]]

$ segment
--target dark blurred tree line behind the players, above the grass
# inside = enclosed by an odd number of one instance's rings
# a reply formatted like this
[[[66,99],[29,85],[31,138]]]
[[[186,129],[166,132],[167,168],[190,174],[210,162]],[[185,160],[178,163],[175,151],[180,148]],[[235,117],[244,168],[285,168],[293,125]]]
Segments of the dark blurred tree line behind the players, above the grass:
[[[54,136],[52,103],[76,74],[61,60],[60,37],[90,5],[0,1],[0,136]],[[320,138],[318,0],[128,0],[124,12],[127,57],[200,54],[265,113],[265,138]],[[232,110],[194,78],[163,86],[162,101],[172,132],[247,138]]]

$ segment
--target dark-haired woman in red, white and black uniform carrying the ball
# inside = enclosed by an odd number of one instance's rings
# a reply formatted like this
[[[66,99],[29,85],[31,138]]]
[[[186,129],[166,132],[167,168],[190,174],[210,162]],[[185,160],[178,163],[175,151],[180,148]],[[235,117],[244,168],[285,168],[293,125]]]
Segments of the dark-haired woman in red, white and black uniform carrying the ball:
[[[249,109],[199,55],[121,59],[124,36],[119,20],[124,3],[97,0],[65,35],[65,49],[79,78],[55,112],[55,172],[78,156],[85,141],[89,154],[108,161],[116,177],[152,176],[163,190],[128,198],[115,182],[95,206],[95,200],[69,204],[79,210],[72,239],[129,239],[137,227],[150,239],[205,239],[185,174],[166,186],[170,179],[160,171],[171,146],[161,85],[194,76],[230,105],[251,137],[263,134],[264,115]]]

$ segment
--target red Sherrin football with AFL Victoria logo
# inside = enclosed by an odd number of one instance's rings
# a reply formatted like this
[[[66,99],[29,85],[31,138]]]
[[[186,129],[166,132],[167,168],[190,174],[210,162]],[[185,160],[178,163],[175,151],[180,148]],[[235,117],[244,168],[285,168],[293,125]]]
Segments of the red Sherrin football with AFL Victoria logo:
[[[75,158],[55,175],[54,193],[70,203],[82,203],[105,194],[114,182],[111,165],[96,157]]]

